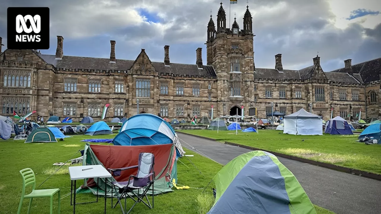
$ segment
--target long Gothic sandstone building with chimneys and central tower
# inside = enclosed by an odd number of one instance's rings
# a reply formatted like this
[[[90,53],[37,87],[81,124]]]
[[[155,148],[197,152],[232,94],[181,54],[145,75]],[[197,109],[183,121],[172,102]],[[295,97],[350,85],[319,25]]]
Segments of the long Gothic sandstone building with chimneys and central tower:
[[[0,45],[1,115],[13,110],[24,115],[37,110],[48,117],[70,116],[74,121],[90,115],[99,120],[102,107],[110,103],[107,119],[152,113],[190,120],[193,115],[248,115],[256,108],[259,118],[274,110],[290,114],[301,108],[328,120],[333,115],[356,118],[381,116],[381,58],[357,65],[351,59],[344,68],[323,72],[320,57],[300,70],[283,69],[282,54],[275,55],[273,69],[256,68],[252,17],[246,10],[243,29],[236,19],[226,27],[222,3],[216,26],[207,27],[207,65],[202,48],[195,64],[170,61],[164,46],[164,61],[152,62],[144,49],[135,60],[116,59],[115,41],[110,58],[64,55],[62,36],[57,36],[55,55],[37,50],[5,50]],[[1,44],[1,38],[0,38]]]

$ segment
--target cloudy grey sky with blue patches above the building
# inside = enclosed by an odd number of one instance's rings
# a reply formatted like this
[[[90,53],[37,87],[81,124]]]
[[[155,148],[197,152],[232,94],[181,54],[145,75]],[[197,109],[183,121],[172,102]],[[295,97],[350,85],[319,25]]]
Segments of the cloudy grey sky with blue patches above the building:
[[[203,48],[206,64],[207,24],[212,11],[216,22],[218,0],[2,0],[0,37],[6,48],[6,8],[50,8],[50,49],[56,35],[64,37],[64,55],[110,56],[116,40],[117,59],[136,59],[142,48],[151,61],[163,61],[170,45],[170,61],[195,64],[196,49]],[[381,57],[381,3],[379,0],[249,0],[253,16],[256,67],[275,66],[282,53],[283,68],[312,65],[319,52],[324,71]],[[229,20],[229,1],[223,0]],[[246,0],[231,5],[243,26]],[[228,22],[228,21],[227,21]],[[231,21],[232,23],[233,21]],[[228,23],[229,24],[229,23]],[[5,50],[5,49],[3,49]]]

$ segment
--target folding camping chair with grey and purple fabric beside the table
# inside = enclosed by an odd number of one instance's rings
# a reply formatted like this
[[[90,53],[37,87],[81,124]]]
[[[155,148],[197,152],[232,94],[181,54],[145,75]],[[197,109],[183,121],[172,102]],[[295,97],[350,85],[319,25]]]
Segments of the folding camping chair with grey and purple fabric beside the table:
[[[127,166],[123,168],[116,168],[116,169],[107,169],[111,172],[113,176],[120,176],[120,172],[122,170],[126,169],[133,169],[133,168],[138,168],[138,173],[135,175],[130,175],[128,178],[128,181],[122,181],[122,182],[112,182],[112,192],[115,193],[117,192],[118,188],[118,202],[115,204],[120,204],[120,208],[122,209],[123,214],[125,214],[125,209],[126,209],[126,198],[127,196],[130,197],[132,200],[135,201],[135,203],[132,205],[130,210],[126,213],[130,213],[132,208],[139,203],[143,202],[146,204],[147,207],[154,208],[154,182],[155,182],[155,171],[154,171],[154,154],[148,153],[148,152],[142,152],[139,154],[139,160],[138,160],[138,165],[135,166]],[[147,192],[149,188],[152,185],[152,206],[151,203],[148,200]],[[138,193],[135,193],[137,190]],[[132,194],[132,195],[131,195]],[[135,200],[134,196],[137,198]],[[124,208],[122,206],[122,203],[120,200],[122,198],[125,198],[124,201]],[[144,201],[143,199],[146,198],[147,202]],[[112,198],[111,198],[111,206],[112,206]],[[115,206],[113,208],[115,208]]]

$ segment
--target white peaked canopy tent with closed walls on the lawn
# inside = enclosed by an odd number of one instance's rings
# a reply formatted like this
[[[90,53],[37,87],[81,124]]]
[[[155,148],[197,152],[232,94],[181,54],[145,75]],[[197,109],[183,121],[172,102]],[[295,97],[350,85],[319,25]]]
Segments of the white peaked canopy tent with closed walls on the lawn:
[[[284,118],[283,134],[323,135],[323,117],[306,112],[304,109]]]

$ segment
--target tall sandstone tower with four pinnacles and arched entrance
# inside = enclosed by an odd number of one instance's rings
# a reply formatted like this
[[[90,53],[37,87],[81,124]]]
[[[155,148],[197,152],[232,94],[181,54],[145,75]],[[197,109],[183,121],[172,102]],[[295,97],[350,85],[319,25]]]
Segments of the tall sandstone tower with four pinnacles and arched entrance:
[[[218,115],[235,115],[241,106],[248,114],[254,102],[254,52],[252,18],[247,6],[243,29],[234,18],[231,28],[226,28],[226,13],[222,2],[217,13],[217,30],[210,17],[208,23],[207,62],[217,73]]]

